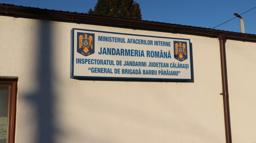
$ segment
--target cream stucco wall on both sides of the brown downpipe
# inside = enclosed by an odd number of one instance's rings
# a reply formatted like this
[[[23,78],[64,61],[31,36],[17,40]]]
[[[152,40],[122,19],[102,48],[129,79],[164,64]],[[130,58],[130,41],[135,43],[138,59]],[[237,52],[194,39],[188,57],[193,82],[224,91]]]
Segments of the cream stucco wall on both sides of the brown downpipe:
[[[190,39],[194,83],[72,79],[72,28]],[[217,38],[4,16],[0,33],[0,76],[19,77],[17,143],[225,142]],[[233,143],[253,143],[255,44],[226,47]]]

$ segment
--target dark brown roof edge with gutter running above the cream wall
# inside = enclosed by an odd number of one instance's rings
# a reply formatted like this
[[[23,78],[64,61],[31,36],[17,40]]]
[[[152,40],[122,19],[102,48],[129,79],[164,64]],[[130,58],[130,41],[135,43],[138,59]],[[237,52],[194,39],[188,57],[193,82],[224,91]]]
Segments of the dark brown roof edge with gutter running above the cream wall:
[[[171,24],[147,20],[132,20],[116,17],[103,17],[98,15],[89,15],[69,11],[56,11],[54,9],[31,8],[26,6],[16,6],[9,4],[0,4],[0,15],[11,17],[23,17],[32,19],[63,21],[70,23],[96,24],[111,27],[123,27],[130,29],[141,29],[151,31],[161,31],[170,33],[183,33],[189,35],[208,36],[217,38],[223,34],[227,39],[239,41],[256,42],[256,35],[230,32],[225,30],[216,30],[196,26],[186,26],[181,24]]]

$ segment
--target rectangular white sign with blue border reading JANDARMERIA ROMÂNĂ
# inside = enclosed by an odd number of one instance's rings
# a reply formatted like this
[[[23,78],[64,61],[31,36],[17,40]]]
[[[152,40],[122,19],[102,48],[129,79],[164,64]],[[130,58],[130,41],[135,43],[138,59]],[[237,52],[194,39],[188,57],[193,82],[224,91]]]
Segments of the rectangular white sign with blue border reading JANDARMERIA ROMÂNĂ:
[[[192,78],[190,39],[72,29],[71,51],[71,78]]]

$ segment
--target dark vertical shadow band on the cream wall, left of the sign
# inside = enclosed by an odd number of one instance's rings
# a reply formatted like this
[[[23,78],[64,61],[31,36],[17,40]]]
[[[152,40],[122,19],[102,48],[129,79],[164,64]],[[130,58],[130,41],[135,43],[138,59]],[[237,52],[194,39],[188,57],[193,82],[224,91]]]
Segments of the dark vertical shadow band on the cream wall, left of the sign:
[[[53,93],[52,81],[52,33],[51,21],[40,21],[38,36],[38,44],[35,51],[37,60],[35,63],[36,79],[38,89],[35,93],[27,96],[29,102],[35,107],[35,119],[37,121],[37,137],[35,143],[54,143],[54,135],[57,129],[54,126],[53,104],[55,97]],[[28,65],[32,66],[32,65]]]

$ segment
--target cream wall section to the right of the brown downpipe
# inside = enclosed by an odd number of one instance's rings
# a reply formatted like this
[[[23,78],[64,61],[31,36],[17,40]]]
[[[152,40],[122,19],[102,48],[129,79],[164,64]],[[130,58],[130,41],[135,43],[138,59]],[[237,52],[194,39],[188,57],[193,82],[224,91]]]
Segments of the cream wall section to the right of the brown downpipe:
[[[226,42],[231,131],[234,143],[256,143],[256,43]]]

